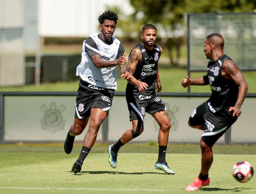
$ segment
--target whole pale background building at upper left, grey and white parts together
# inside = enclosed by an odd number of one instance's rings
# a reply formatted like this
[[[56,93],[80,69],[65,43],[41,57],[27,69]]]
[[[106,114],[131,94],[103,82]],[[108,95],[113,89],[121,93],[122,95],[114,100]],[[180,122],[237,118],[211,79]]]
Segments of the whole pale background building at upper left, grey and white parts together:
[[[98,16],[113,6],[133,11],[129,0],[0,0],[0,86],[40,84],[40,38],[99,32]]]

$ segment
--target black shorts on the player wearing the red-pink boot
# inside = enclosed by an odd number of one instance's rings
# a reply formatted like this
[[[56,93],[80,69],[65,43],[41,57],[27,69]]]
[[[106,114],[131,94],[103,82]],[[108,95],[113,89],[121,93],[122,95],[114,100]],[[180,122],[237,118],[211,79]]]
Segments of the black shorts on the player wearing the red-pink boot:
[[[205,128],[202,140],[209,146],[213,146],[216,141],[236,122],[237,117],[232,116],[229,107],[224,107],[216,112],[209,108],[208,101],[198,106],[190,115],[189,122],[193,126],[203,125]]]

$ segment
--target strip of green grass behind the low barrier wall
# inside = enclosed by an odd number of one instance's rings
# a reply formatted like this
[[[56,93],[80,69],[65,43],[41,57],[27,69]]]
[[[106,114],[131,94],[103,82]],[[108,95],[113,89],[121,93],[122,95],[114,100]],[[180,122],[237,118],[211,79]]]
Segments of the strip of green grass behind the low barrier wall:
[[[187,88],[181,86],[182,78],[186,78],[186,68],[170,68],[168,64],[161,64],[159,67],[160,80],[162,82],[162,92],[187,92]],[[248,93],[256,93],[255,77],[256,72],[243,72],[244,77],[249,86]],[[204,73],[192,73],[191,78],[198,78]],[[124,92],[126,80],[119,78],[117,80],[117,92]],[[58,82],[50,84],[0,87],[0,92],[76,92],[78,89],[78,81],[74,82]],[[191,86],[191,92],[207,92],[210,93],[209,86]]]

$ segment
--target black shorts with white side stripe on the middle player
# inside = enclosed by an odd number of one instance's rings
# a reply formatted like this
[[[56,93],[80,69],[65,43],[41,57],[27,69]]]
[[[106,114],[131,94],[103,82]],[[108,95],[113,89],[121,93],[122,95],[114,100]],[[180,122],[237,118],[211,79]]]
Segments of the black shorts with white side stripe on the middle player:
[[[152,114],[154,112],[166,110],[164,102],[158,96],[148,102],[138,102],[135,99],[129,100],[127,101],[127,106],[130,121],[139,120],[139,118],[144,121],[146,112]]]

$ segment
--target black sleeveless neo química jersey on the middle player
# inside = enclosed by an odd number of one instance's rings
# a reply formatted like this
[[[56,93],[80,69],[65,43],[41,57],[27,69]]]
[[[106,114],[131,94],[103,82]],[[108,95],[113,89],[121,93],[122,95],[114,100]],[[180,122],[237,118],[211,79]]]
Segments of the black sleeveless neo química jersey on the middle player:
[[[139,102],[147,102],[152,100],[156,96],[156,77],[157,77],[157,66],[160,57],[160,47],[154,44],[153,50],[148,50],[144,47],[143,43],[137,44],[135,48],[141,50],[142,60],[137,65],[134,72],[134,78],[148,84],[148,89],[141,93],[138,90],[138,86],[127,83],[126,86],[126,99],[135,98]],[[129,55],[130,58],[130,55]]]

